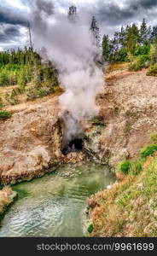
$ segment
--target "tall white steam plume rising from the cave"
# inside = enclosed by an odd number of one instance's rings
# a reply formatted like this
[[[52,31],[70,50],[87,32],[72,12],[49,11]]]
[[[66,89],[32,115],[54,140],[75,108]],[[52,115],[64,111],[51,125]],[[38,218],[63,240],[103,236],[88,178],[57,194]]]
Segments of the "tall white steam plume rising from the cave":
[[[67,15],[52,14],[52,8],[50,12],[41,6],[37,5],[32,14],[33,41],[36,49],[44,46],[49,60],[58,69],[65,90],[60,103],[69,113],[64,118],[68,130],[64,137],[68,142],[77,137],[79,122],[98,112],[96,95],[104,85],[102,68],[96,65],[100,49],[91,36],[89,17],[80,13],[78,22],[71,22]]]

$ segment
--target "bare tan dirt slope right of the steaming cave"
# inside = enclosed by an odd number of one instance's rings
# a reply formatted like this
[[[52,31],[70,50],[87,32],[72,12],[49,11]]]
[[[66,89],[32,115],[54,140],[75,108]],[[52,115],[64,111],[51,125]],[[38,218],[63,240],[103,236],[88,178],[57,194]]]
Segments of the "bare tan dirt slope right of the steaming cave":
[[[109,73],[106,90],[97,101],[105,128],[101,135],[90,137],[90,148],[99,151],[102,160],[108,154],[111,165],[136,157],[157,131],[157,78],[146,73]]]

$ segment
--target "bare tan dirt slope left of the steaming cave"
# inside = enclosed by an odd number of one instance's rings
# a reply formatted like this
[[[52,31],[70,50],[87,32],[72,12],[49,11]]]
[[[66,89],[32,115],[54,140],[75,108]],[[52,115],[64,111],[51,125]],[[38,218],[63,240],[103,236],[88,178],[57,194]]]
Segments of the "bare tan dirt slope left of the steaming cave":
[[[58,119],[58,97],[47,97],[10,107],[11,119],[0,122],[1,179],[33,176],[58,157],[55,124]],[[59,137],[58,137],[59,138]]]

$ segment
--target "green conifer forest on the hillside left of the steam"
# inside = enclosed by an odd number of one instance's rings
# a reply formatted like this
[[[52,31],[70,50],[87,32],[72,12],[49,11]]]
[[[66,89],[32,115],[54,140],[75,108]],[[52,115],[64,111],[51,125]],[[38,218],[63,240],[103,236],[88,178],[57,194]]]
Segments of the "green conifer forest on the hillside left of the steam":
[[[10,116],[6,106],[60,90],[55,67],[43,62],[37,52],[27,48],[0,52],[0,119]]]

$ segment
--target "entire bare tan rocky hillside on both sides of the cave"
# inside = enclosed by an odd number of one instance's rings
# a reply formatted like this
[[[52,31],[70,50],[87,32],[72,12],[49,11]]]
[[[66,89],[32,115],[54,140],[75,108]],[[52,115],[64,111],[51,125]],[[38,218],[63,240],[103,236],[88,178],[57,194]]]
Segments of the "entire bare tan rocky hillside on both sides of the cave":
[[[115,166],[119,160],[134,158],[150,143],[157,125],[157,80],[146,71],[131,73],[125,65],[110,68],[106,87],[97,97],[99,122],[83,122],[86,153]],[[61,153],[61,122],[58,96],[8,107],[12,117],[0,120],[0,181],[15,183],[38,177],[48,167],[77,161],[84,154]]]

